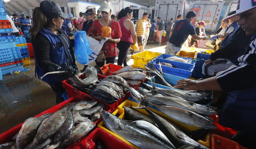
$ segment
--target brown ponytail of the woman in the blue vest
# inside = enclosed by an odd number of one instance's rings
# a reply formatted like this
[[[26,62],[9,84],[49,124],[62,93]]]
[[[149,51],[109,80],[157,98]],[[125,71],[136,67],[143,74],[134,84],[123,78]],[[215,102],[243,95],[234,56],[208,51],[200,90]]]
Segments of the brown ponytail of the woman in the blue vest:
[[[46,16],[44,16],[40,7],[36,7],[33,11],[33,26],[30,28],[29,32],[31,33],[31,39],[35,39],[36,34],[40,29],[44,27],[48,22]]]

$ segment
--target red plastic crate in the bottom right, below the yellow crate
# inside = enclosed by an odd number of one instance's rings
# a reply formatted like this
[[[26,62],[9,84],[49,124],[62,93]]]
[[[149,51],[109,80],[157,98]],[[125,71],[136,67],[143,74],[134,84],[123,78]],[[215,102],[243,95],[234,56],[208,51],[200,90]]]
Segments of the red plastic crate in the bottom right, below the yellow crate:
[[[239,143],[230,139],[212,134],[212,148],[211,149],[247,149],[239,145]]]

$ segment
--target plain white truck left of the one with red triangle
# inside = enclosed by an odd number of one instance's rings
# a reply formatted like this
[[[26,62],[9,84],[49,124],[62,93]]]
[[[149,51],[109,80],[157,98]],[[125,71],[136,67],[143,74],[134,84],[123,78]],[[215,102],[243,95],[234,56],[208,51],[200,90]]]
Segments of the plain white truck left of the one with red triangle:
[[[186,0],[156,0],[154,18],[160,17],[164,20],[170,20],[181,14],[183,17],[189,9],[189,3]]]

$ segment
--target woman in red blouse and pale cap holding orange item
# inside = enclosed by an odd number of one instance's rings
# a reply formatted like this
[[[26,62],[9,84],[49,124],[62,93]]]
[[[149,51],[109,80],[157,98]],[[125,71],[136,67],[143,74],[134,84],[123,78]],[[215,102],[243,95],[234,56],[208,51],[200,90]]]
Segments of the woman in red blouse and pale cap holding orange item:
[[[101,41],[103,38],[108,38],[96,59],[96,64],[98,67],[102,67],[106,60],[106,63],[115,63],[116,59],[116,43],[120,41],[122,37],[122,32],[119,23],[116,20],[110,18],[111,15],[111,6],[109,2],[102,2],[100,5],[100,12],[102,18],[95,20],[92,23],[88,31],[88,35],[92,34],[91,37]],[[104,32],[109,31],[107,35],[104,35]]]

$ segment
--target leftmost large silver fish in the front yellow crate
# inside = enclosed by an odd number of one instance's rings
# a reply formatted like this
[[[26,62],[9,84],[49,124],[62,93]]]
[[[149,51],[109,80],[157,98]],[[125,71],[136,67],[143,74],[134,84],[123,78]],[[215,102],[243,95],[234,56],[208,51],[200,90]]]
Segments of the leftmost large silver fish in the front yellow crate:
[[[142,129],[138,129],[113,114],[102,111],[104,124],[108,129],[120,135],[141,149],[173,149]]]

